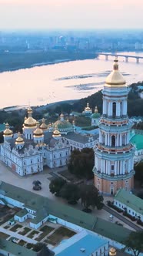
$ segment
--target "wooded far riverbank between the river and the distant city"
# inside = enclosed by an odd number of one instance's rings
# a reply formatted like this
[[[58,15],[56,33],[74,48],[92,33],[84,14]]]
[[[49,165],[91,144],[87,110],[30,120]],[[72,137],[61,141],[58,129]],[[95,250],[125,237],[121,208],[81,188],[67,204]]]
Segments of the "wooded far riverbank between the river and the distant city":
[[[2,63],[0,72],[29,69],[34,66],[52,65],[73,60],[95,59],[95,57],[95,52],[66,52],[55,50],[46,52],[2,52],[0,54]]]

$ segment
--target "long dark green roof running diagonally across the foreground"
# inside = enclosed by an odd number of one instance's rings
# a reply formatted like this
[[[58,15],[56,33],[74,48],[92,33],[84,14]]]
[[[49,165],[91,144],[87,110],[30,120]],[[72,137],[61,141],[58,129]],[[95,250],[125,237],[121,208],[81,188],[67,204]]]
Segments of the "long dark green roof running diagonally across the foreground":
[[[11,184],[6,184],[3,181],[0,182],[0,190],[5,196],[12,197],[25,204],[25,207],[33,209],[34,206],[36,217],[32,219],[33,223],[38,223],[51,214],[118,242],[123,241],[123,238],[128,237],[128,234],[131,232],[125,227],[119,227],[94,215],[77,210],[74,207],[50,200],[48,197],[42,197],[38,194],[35,197],[34,193]]]

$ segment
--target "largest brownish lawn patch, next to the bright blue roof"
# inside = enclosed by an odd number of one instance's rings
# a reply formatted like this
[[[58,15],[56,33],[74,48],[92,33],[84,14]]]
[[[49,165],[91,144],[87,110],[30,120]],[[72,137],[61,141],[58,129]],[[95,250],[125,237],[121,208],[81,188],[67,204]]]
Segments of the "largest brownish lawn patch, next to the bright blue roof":
[[[49,244],[58,244],[64,237],[72,237],[76,234],[74,231],[69,230],[66,227],[59,227],[51,236],[48,237]]]

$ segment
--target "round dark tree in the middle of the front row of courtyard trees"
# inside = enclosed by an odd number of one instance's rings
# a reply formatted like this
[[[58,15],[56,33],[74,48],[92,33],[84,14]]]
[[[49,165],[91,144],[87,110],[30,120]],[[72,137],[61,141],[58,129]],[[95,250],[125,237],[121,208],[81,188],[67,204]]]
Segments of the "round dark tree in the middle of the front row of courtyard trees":
[[[77,204],[80,197],[78,185],[65,184],[60,191],[60,196],[68,200],[68,204]]]

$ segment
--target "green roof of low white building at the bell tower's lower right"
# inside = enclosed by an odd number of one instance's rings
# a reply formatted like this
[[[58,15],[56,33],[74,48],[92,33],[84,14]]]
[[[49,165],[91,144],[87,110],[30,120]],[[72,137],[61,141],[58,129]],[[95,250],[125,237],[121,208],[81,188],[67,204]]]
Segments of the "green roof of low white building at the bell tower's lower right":
[[[131,194],[128,190],[121,189],[115,194],[115,200],[120,201],[122,204],[131,207],[131,209],[137,211],[139,214],[143,214],[143,200],[136,197],[135,194]]]

